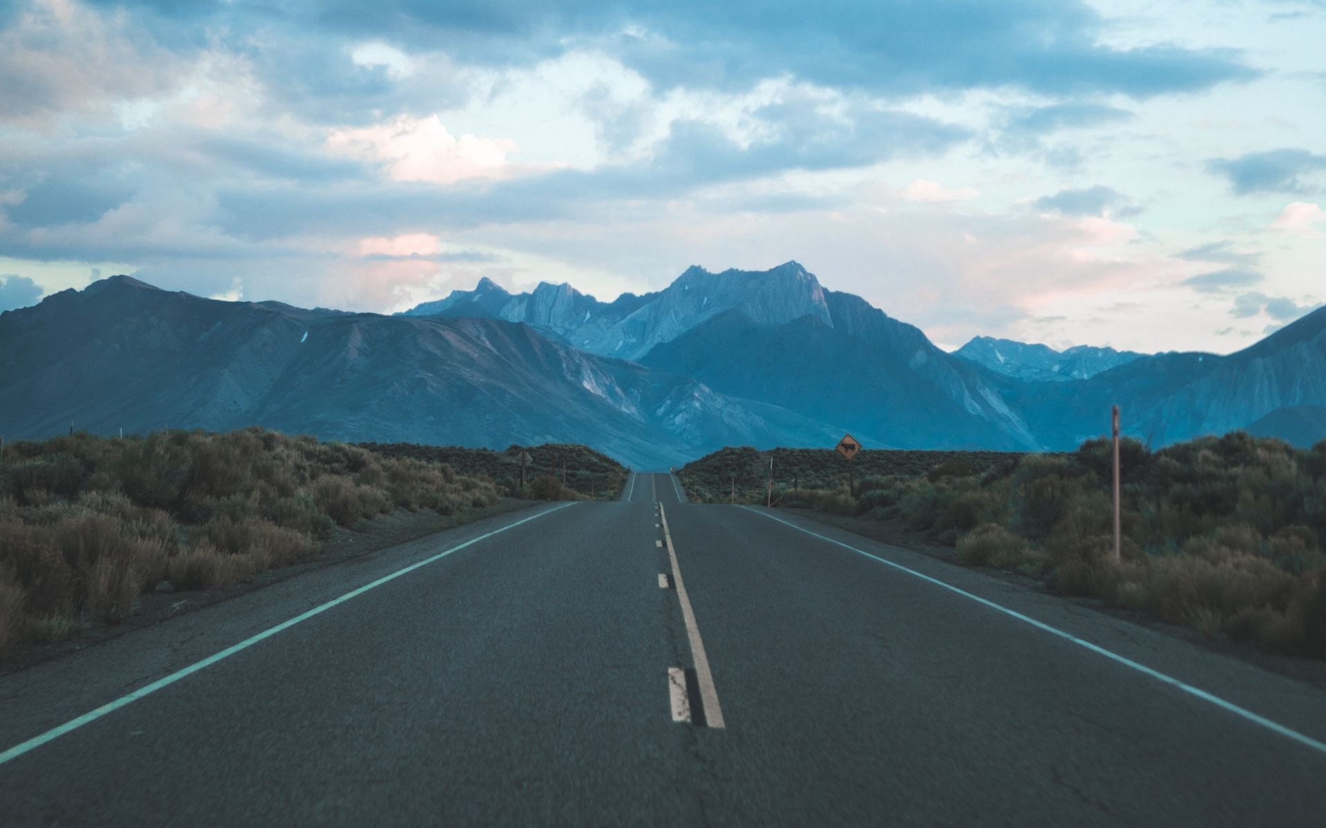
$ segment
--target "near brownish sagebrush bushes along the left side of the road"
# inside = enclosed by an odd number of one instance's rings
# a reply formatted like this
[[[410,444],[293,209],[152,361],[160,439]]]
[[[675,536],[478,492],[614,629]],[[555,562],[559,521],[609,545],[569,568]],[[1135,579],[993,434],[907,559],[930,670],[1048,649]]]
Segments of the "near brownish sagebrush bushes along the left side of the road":
[[[313,560],[335,526],[463,514],[501,494],[446,462],[260,428],[13,442],[0,462],[0,653],[119,623],[158,586],[221,588]]]

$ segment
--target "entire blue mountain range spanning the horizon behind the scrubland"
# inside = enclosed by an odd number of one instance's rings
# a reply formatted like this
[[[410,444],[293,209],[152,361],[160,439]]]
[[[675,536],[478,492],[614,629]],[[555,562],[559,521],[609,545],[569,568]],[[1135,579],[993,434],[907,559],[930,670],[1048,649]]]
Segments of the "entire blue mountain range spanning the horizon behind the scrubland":
[[[996,364],[989,364],[993,360]],[[1256,346],[1140,355],[977,338],[948,354],[797,262],[601,302],[483,280],[404,314],[224,302],[111,277],[0,314],[0,433],[261,424],[325,439],[583,442],[636,468],[723,445],[1070,449],[1109,407],[1152,445],[1310,442],[1326,310]]]

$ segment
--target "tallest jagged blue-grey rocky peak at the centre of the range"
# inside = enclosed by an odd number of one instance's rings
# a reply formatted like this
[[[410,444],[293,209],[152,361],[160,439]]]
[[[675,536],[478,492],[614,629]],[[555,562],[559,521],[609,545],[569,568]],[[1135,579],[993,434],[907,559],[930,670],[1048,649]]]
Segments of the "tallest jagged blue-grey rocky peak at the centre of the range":
[[[693,368],[699,371],[697,376],[708,376],[720,383],[716,387],[724,388],[725,393],[765,401],[784,400],[780,405],[838,399],[837,389],[823,387],[823,383],[835,380],[822,372],[801,372],[796,375],[804,383],[800,392],[786,393],[792,387],[790,378],[776,376],[778,364],[758,360],[747,364],[740,352],[705,346],[716,348],[709,351],[713,364],[700,370],[680,351],[663,346],[716,319],[729,322],[709,327],[701,339],[732,339],[732,334],[720,333],[720,329],[733,319],[769,327],[804,318],[815,319],[822,323],[819,327],[798,329],[808,336],[826,338],[813,347],[825,354],[847,352],[857,346],[847,343],[845,338],[855,339],[866,348],[861,351],[861,359],[880,363],[873,368],[873,376],[888,388],[873,392],[871,399],[884,404],[884,397],[888,397],[890,413],[880,415],[863,400],[833,411],[793,405],[794,411],[812,417],[827,416],[834,423],[857,423],[854,428],[858,431],[888,427],[892,429],[887,437],[890,445],[923,445],[924,440],[940,440],[934,445],[1038,446],[1021,416],[1000,397],[988,372],[945,354],[919,329],[890,318],[865,299],[825,290],[814,274],[794,261],[760,272],[729,269],[711,273],[692,266],[664,290],[642,297],[626,294],[610,305],[579,294],[566,285],[541,284],[533,293],[512,295],[485,281],[475,290],[452,291],[446,299],[420,305],[407,314],[450,317],[469,313],[468,309],[475,305],[481,305],[504,319],[540,326],[540,330],[586,351],[636,359],[683,375],[690,375]],[[837,334],[830,335],[829,331]],[[789,334],[773,336],[777,339],[786,335]],[[724,370],[717,364],[720,358],[731,358],[736,360],[733,364],[743,364],[744,368],[740,372]],[[884,370],[884,366],[888,368]],[[776,387],[784,392],[773,393]],[[765,393],[761,388],[770,391]],[[951,404],[941,404],[935,399],[936,391],[947,396]],[[914,399],[908,399],[908,393]],[[922,416],[920,412],[930,412],[930,416]],[[988,424],[973,424],[973,417],[987,420]]]

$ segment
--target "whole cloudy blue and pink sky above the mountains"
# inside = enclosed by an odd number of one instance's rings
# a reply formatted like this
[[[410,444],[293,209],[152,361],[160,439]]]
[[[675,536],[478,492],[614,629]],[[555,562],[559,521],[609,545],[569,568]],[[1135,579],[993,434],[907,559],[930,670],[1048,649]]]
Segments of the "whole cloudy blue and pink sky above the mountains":
[[[796,260],[941,347],[1231,352],[1326,301],[1323,42],[1326,0],[0,0],[0,310]]]

